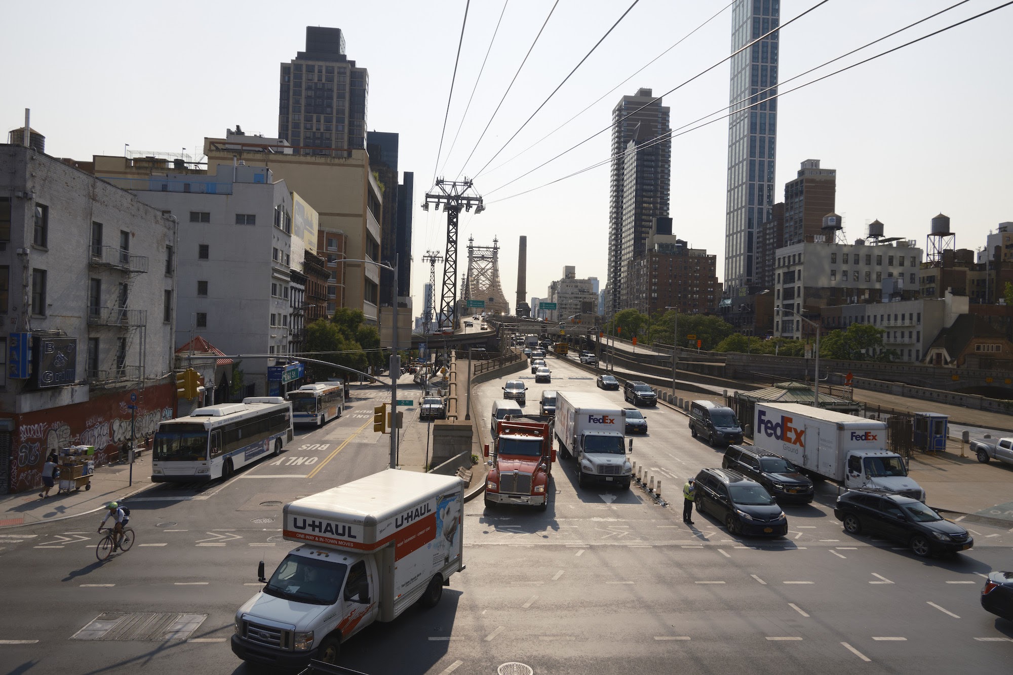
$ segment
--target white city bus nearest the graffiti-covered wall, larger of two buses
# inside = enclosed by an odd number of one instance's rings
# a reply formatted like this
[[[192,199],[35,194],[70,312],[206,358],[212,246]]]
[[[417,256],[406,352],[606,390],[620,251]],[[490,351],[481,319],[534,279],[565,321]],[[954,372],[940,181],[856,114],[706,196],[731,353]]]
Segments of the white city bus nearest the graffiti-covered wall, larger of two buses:
[[[151,481],[227,478],[242,466],[280,454],[292,436],[292,403],[281,396],[199,407],[158,425]]]

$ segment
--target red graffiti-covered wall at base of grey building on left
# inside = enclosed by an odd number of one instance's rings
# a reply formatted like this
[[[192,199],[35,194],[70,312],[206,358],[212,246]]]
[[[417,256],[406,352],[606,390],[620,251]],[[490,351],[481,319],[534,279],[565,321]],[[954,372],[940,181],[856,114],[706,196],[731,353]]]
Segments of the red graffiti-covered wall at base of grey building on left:
[[[120,448],[131,440],[131,393],[122,391],[84,403],[16,416],[8,467],[10,492],[35,490],[42,484],[43,464],[51,450],[93,445],[96,466],[116,457]],[[153,433],[162,420],[172,419],[174,383],[133,393],[137,394],[134,433],[138,439]]]

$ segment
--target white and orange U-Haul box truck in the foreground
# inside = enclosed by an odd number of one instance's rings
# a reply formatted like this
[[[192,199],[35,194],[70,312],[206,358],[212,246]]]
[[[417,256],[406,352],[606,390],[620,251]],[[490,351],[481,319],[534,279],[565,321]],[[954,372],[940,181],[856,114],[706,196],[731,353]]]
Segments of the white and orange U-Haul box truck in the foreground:
[[[436,605],[464,570],[455,476],[387,469],[284,509],[299,546],[236,612],[232,651],[279,668],[335,663],[342,643],[414,602]]]

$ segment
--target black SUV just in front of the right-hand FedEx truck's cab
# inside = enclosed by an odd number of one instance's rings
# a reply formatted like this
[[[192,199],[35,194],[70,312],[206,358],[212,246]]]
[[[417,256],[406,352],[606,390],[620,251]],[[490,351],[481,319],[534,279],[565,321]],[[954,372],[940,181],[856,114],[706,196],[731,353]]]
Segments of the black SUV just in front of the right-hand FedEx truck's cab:
[[[897,539],[915,555],[955,553],[975,539],[918,500],[884,491],[849,490],[837,498],[834,515],[851,534],[862,531]]]

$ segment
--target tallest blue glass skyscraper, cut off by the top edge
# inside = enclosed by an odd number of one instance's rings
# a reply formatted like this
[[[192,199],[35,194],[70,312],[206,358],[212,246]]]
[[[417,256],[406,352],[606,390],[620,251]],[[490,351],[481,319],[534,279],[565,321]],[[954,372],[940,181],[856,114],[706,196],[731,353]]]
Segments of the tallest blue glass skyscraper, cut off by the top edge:
[[[731,51],[776,28],[780,0],[735,0]],[[778,33],[731,58],[728,118],[728,194],[724,225],[725,295],[754,283],[756,232],[770,220],[777,157]],[[765,89],[771,88],[769,91]]]

